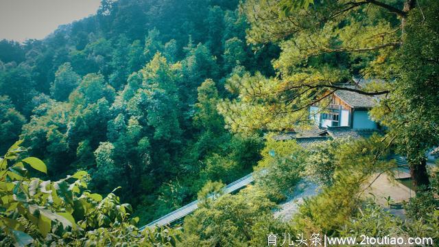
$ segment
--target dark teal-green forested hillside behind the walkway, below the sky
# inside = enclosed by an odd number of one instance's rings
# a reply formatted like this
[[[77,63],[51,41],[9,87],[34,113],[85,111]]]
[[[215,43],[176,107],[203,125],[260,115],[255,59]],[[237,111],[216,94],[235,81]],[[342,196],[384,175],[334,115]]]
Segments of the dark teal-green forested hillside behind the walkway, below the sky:
[[[102,1],[44,40],[2,40],[0,153],[21,138],[47,178],[88,171],[144,221],[249,172],[261,139],[226,131],[216,104],[233,71],[273,75],[278,48],[246,45],[237,4]]]

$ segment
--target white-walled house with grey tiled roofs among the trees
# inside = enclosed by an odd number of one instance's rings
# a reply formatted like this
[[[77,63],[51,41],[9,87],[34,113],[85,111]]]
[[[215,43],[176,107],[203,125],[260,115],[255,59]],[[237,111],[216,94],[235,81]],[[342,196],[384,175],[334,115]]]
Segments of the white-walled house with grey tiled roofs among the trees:
[[[352,84],[343,84],[346,89],[361,89],[366,80],[353,79]],[[370,118],[369,111],[379,102],[378,97],[361,95],[349,90],[338,90],[331,95],[329,104],[318,103],[309,107],[311,127],[280,133],[276,140],[296,139],[303,148],[311,148],[313,143],[336,138],[370,137],[380,132],[380,126]]]

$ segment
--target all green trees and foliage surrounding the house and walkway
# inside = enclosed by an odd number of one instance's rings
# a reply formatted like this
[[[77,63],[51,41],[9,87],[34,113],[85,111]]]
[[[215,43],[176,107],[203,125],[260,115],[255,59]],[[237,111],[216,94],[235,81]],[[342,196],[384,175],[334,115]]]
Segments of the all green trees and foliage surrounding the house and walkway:
[[[12,237],[0,244],[438,243],[439,176],[425,157],[439,145],[438,11],[434,0],[102,0],[43,40],[1,40],[0,226]],[[379,134],[312,152],[272,139],[309,127],[308,107],[353,76],[385,81],[353,89],[381,99]],[[394,167],[390,154],[407,158],[418,188],[403,219],[362,196]],[[254,169],[268,172],[209,198]],[[305,177],[318,196],[292,220],[273,217]],[[133,226],[197,198],[182,228]]]

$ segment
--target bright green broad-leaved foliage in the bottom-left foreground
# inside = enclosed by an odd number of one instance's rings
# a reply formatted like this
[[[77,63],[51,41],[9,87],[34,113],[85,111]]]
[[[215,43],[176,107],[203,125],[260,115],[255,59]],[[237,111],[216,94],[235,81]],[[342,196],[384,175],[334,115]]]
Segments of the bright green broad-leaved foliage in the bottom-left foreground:
[[[47,167],[36,157],[21,158],[20,144],[0,158],[1,246],[175,244],[169,230],[140,233],[130,204],[120,204],[114,193],[103,198],[88,191],[84,171],[56,182],[31,178],[28,166],[45,174]]]

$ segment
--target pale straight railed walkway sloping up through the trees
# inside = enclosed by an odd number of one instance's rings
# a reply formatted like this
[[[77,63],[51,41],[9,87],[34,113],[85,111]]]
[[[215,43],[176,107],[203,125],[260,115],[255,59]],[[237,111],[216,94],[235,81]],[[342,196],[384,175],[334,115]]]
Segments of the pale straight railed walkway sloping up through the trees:
[[[251,174],[248,174],[247,176],[239,178],[235,182],[226,185],[226,187],[224,187],[222,192],[224,194],[232,193],[233,191],[237,191],[238,189],[241,189],[242,187],[246,187],[247,185],[249,185],[250,183],[252,183],[254,181],[254,174],[257,174],[257,173],[265,174],[265,172],[266,172],[266,170],[262,169],[259,172],[252,172]],[[213,198],[213,196],[215,196],[215,195],[209,196],[209,198]],[[139,230],[143,231],[143,229],[145,229],[146,227],[152,227],[152,226],[165,226],[165,225],[170,224],[176,220],[181,219],[182,217],[185,217],[186,215],[188,215],[189,213],[192,213],[196,209],[198,209],[198,200],[195,200],[195,201],[193,201],[193,202],[191,202],[183,207],[180,207],[180,209],[176,209],[175,211],[172,211],[171,213],[168,213],[167,215],[164,215],[164,216],[158,218],[157,220],[154,220],[150,224],[142,226],[141,228],[139,228]]]

